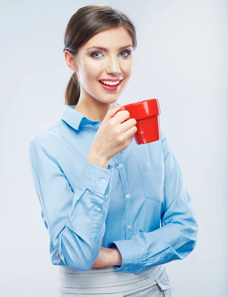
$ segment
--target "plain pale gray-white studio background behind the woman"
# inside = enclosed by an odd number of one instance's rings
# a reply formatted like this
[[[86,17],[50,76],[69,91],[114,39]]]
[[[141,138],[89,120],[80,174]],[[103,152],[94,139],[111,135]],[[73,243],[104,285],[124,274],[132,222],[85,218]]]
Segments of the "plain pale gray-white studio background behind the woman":
[[[57,296],[28,142],[64,107],[67,22],[78,8],[101,3],[137,29],[134,71],[118,102],[159,99],[161,127],[194,202],[197,246],[166,264],[177,297],[226,297],[226,0],[0,1],[0,296]]]

